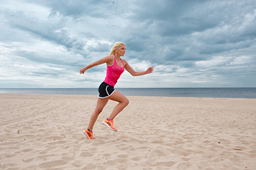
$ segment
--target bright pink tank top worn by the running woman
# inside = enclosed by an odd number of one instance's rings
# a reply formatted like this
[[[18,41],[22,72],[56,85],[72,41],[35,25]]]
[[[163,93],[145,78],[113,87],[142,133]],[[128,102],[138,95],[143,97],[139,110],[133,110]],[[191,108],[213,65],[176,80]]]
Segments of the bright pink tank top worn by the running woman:
[[[120,78],[121,74],[124,73],[124,61],[122,60],[123,67],[118,66],[116,62],[116,57],[114,57],[114,63],[112,66],[107,66],[107,75],[104,80],[105,83],[108,83],[112,87],[115,87],[117,80]]]

